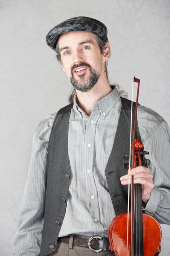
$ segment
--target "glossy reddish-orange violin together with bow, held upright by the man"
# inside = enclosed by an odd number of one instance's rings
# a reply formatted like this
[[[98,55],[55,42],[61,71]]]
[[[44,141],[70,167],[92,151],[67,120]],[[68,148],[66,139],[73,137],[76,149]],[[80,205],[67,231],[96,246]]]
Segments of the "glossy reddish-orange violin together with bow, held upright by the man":
[[[138,83],[138,89],[136,96],[133,141],[130,143],[130,153],[123,156],[125,160],[129,159],[129,164],[126,163],[124,165],[125,169],[129,169],[129,167],[133,169],[137,166],[148,166],[150,164],[149,159],[144,159],[144,155],[149,154],[149,152],[144,151],[143,144],[139,139],[136,139],[136,120],[140,80],[134,76],[133,82]],[[130,155],[132,156],[131,166]],[[113,218],[109,226],[109,249],[114,251],[116,256],[153,256],[155,253],[160,252],[161,227],[155,218],[142,212],[142,185],[134,184],[133,180],[134,177],[132,176],[130,212],[128,196],[127,212],[120,213]]]

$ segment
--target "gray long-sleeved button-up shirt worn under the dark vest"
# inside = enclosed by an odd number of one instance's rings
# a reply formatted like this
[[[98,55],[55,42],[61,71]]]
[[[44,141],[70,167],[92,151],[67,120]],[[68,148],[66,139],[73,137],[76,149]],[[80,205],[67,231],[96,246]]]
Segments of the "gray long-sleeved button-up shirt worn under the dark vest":
[[[116,88],[95,103],[91,116],[79,108],[74,98],[68,133],[72,179],[59,236],[71,233],[108,236],[115,212],[105,167],[113,147],[120,109]],[[42,119],[34,134],[13,256],[38,256],[40,253],[48,141],[56,114]],[[169,128],[161,116],[142,106],[138,108],[138,125],[144,150],[150,152],[149,169],[155,184],[145,211],[161,223],[170,224]]]

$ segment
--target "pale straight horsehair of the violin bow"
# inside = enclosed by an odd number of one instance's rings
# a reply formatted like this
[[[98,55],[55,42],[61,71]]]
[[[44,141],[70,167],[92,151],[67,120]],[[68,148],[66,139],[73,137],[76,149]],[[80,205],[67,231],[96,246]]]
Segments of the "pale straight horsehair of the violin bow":
[[[130,170],[130,164],[131,164],[132,111],[133,111],[133,82],[132,82],[131,116],[130,116],[129,170]],[[128,179],[128,200],[127,200],[127,244],[126,244],[127,249],[128,249],[128,234],[129,234],[129,201],[130,201],[130,175]]]

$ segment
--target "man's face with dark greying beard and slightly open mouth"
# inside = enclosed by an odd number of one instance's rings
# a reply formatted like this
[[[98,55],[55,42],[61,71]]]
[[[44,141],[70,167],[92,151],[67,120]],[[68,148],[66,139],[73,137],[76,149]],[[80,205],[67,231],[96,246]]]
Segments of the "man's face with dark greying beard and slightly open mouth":
[[[82,92],[94,87],[105,67],[105,61],[93,33],[63,33],[59,37],[59,51],[62,69],[72,85]]]

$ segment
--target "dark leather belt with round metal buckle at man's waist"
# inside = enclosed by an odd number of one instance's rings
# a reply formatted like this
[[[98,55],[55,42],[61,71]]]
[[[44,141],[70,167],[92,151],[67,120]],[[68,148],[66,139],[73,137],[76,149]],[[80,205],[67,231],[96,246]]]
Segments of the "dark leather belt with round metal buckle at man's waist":
[[[58,242],[69,244],[70,236],[63,236],[58,238]],[[101,236],[74,236],[73,244],[90,248],[95,252],[103,250],[109,250],[109,239],[102,238]]]

